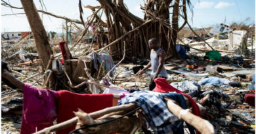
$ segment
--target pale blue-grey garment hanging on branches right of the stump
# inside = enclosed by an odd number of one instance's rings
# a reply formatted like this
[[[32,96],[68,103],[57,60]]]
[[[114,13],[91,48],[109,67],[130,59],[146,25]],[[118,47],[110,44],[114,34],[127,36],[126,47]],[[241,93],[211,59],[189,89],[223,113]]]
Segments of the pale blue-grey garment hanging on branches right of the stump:
[[[105,63],[104,66],[106,68],[106,71],[110,71],[115,66],[112,56],[110,56],[108,54],[104,54],[104,53],[98,54],[96,52],[92,52],[89,55],[89,58],[93,60],[93,66],[95,67],[96,71],[98,71],[97,61],[100,64],[102,63],[102,61],[104,61],[104,63]],[[113,71],[114,71],[114,69],[113,69]],[[111,77],[113,77],[113,71],[110,72]]]

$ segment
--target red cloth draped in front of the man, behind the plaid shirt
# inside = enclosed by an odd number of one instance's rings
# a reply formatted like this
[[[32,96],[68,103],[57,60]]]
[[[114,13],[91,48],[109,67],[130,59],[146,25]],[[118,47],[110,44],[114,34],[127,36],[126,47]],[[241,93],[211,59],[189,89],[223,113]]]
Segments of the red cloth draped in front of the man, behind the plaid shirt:
[[[192,97],[190,97],[190,95],[188,95],[184,92],[181,92],[181,90],[178,90],[177,88],[174,88],[173,86],[171,86],[165,80],[165,78],[156,78],[154,81],[156,82],[156,88],[154,88],[154,90],[153,90],[154,92],[161,92],[161,93],[177,92],[177,93],[181,93],[182,95],[186,96],[188,98],[188,100],[190,101],[190,104],[192,106],[193,114],[202,117],[201,111],[200,111],[198,105],[196,104],[194,99],[192,99]]]

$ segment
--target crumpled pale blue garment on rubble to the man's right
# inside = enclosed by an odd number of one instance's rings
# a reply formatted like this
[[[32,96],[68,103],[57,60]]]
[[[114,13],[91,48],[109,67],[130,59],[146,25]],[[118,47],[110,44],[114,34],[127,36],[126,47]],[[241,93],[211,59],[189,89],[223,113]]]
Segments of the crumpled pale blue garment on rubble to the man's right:
[[[209,78],[203,78],[202,80],[198,81],[198,84],[202,85],[202,86],[219,86],[220,84],[224,84],[224,85],[228,85],[229,84],[229,80],[226,78],[219,78],[217,76],[211,76]]]

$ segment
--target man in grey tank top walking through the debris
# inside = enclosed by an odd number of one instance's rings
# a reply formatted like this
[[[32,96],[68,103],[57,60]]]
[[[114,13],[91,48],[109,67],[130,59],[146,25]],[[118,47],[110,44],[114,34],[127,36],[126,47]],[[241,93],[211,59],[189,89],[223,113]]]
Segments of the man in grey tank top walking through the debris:
[[[158,39],[152,38],[148,41],[148,46],[151,49],[150,52],[150,62],[144,69],[139,71],[139,75],[145,73],[146,69],[152,67],[152,72],[150,76],[149,90],[154,90],[156,83],[154,80],[156,78],[167,78],[167,72],[163,67],[163,61],[165,59],[165,52],[159,47]]]

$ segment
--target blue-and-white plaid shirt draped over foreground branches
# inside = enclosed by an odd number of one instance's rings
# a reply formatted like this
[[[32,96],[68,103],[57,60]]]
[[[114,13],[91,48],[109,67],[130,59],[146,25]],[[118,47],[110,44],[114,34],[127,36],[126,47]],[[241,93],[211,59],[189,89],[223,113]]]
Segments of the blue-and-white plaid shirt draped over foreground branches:
[[[181,120],[169,111],[164,95],[161,93],[146,90],[134,92],[119,100],[117,105],[127,103],[134,103],[143,110],[145,116],[150,120],[150,127],[156,134],[173,133],[182,124]]]

